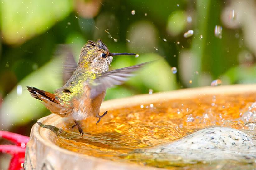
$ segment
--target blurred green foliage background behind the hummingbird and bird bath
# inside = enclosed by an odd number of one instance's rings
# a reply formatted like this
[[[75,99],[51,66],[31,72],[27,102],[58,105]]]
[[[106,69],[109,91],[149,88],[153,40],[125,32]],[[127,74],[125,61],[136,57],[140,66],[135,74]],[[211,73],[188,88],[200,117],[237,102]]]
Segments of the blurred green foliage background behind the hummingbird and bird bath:
[[[160,59],[106,100],[189,87],[256,83],[256,1],[0,0],[0,130],[29,135],[50,112],[26,86],[62,86],[68,44],[76,59],[87,40],[102,39],[111,69]],[[1,161],[0,161],[1,164]],[[0,167],[1,169],[1,167]]]

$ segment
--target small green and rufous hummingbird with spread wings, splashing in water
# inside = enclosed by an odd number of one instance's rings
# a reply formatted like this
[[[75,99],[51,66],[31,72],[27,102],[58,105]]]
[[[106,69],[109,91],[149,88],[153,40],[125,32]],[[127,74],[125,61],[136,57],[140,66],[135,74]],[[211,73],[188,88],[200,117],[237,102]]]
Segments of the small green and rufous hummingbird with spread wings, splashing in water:
[[[69,59],[64,66],[64,85],[50,93],[35,87],[27,86],[31,96],[40,100],[51,113],[60,117],[70,117],[77,126],[80,135],[84,134],[79,125],[87,117],[99,118],[96,125],[107,111],[100,115],[100,106],[106,89],[121,85],[145,63],[109,71],[114,56],[136,55],[134,53],[111,53],[107,46],[98,39],[88,41],[81,49],[78,63]]]

